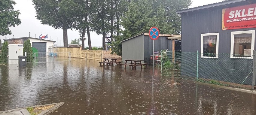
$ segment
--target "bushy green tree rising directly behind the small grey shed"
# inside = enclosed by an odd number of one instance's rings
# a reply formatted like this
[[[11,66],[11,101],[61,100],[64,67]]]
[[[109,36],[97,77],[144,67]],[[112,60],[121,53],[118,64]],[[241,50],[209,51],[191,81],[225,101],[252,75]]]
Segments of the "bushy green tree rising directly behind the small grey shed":
[[[190,4],[191,0],[131,0],[127,11],[121,17],[124,30],[120,32],[123,35],[115,37],[112,53],[121,55],[120,41],[148,33],[152,26],[156,26],[161,34],[181,33],[181,16],[176,11],[185,9]]]

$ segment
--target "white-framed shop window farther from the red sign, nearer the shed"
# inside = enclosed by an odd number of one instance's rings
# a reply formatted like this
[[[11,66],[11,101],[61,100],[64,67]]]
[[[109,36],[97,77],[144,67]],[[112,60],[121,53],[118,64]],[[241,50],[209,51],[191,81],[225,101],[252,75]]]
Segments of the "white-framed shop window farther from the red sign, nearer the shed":
[[[219,33],[201,34],[201,58],[218,58]]]

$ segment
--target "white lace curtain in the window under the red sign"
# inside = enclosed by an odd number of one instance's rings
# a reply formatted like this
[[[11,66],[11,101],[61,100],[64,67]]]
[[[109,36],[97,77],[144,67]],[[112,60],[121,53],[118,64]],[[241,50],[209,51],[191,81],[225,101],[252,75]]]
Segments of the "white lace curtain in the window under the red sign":
[[[234,35],[234,43],[251,43],[251,34],[237,34]]]

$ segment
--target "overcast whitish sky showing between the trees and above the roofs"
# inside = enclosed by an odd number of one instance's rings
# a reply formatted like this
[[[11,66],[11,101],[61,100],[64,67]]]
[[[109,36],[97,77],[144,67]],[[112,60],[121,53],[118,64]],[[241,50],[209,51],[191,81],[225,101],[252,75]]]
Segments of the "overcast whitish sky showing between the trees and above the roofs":
[[[42,25],[40,20],[36,19],[35,8],[31,0],[14,0],[17,4],[14,6],[15,10],[20,10],[21,25],[11,27],[12,35],[0,36],[1,39],[5,38],[20,38],[20,37],[35,37],[38,38],[41,34],[48,34],[53,41],[56,41],[58,46],[63,46],[63,31],[61,29],[53,29],[51,26]],[[192,0],[192,5],[189,8],[221,2],[223,0]],[[102,36],[97,35],[95,32],[90,32],[92,46],[102,46]],[[68,43],[71,39],[79,38],[79,32],[75,30],[68,30]],[[87,38],[87,34],[85,35]],[[88,41],[85,41],[85,46],[88,46]]]

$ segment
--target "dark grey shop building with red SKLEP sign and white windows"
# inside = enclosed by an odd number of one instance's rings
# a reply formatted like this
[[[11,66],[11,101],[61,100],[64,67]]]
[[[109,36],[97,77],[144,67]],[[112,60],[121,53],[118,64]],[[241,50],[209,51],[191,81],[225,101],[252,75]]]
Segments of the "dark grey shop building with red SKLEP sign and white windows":
[[[244,83],[251,85],[252,79],[255,81],[249,73],[255,50],[256,0],[231,0],[177,13],[182,23],[181,50],[191,53],[182,53],[181,75],[197,76],[195,58],[199,51],[201,78],[241,83],[249,75]]]

